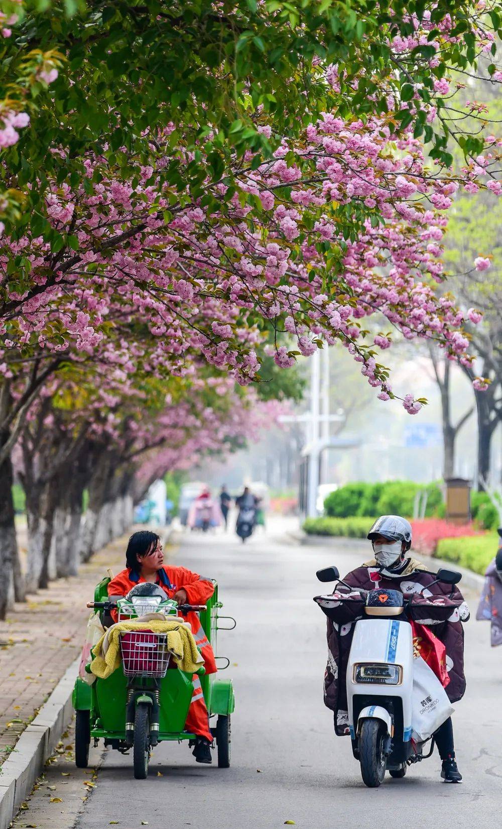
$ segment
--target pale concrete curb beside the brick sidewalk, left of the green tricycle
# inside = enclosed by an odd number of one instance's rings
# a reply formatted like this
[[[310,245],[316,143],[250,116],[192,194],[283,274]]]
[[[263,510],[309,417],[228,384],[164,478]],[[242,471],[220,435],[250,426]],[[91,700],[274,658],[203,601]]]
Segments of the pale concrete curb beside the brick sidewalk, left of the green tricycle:
[[[12,754],[0,767],[0,829],[7,829],[18,808],[31,793],[36,778],[54,754],[73,716],[71,692],[80,657],[72,662],[35,719],[17,740]]]

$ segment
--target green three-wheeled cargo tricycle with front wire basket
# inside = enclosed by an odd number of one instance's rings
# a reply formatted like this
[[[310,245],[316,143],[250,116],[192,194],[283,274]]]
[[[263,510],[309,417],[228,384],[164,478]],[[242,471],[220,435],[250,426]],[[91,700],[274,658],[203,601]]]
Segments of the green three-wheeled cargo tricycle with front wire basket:
[[[137,584],[123,599],[109,599],[109,578],[102,579],[94,589],[94,602],[88,607],[99,613],[108,628],[113,624],[110,615],[117,609],[118,619],[145,618],[147,614],[161,613],[167,620],[178,618],[189,611],[199,613],[205,636],[215,651],[218,629],[233,630],[235,620],[220,616],[222,604],[218,601],[218,585],[204,605],[178,605],[168,599],[156,584]],[[149,616],[148,618],[152,618]],[[231,619],[231,628],[220,628],[219,619]],[[120,636],[121,663],[106,679],[96,678],[89,685],[78,676],[73,691],[75,708],[75,764],[89,766],[89,746],[104,739],[104,745],[128,754],[133,749],[134,777],[144,779],[152,748],[162,740],[195,740],[195,734],[185,730],[186,715],[191,704],[193,675],[171,670],[171,654],[167,650],[166,634],[134,631]],[[216,657],[218,658],[218,657]],[[226,659],[227,657],[220,657]],[[90,673],[90,662],[85,667]],[[210,731],[215,738],[218,766],[230,765],[230,715],[234,711],[234,688],[231,680],[216,679],[206,674],[204,667],[197,671],[210,715]],[[213,744],[214,745],[214,744]]]

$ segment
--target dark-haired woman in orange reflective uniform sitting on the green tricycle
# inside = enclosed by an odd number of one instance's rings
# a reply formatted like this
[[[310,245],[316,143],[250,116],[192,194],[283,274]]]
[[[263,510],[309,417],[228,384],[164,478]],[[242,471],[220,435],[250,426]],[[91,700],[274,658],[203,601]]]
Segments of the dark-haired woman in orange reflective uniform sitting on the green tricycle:
[[[126,550],[126,565],[126,569],[109,582],[110,597],[125,596],[135,584],[148,581],[158,584],[167,596],[178,604],[204,604],[215,592],[209,579],[204,579],[199,574],[186,570],[185,567],[164,565],[162,542],[154,532],[142,530],[133,533]],[[117,621],[117,611],[113,611],[112,616],[114,621]],[[192,611],[187,613],[186,618],[191,623],[195,642],[204,657],[205,672],[215,673],[215,654],[205,636],[199,617]],[[210,732],[209,715],[200,687],[200,679],[196,674],[193,676],[192,683],[194,690],[186,716],[186,730],[196,735],[193,754],[197,763],[210,763],[210,744],[213,737]]]

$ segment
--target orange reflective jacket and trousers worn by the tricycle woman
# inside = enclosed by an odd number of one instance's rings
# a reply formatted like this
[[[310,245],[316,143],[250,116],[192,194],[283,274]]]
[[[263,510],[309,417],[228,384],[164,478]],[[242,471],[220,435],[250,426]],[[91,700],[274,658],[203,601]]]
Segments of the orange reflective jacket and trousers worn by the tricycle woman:
[[[132,590],[136,584],[142,584],[145,579],[138,571],[131,570],[127,567],[121,573],[115,576],[109,582],[108,594],[109,596],[126,596],[129,590]],[[161,587],[167,596],[172,599],[177,590],[185,590],[187,604],[205,604],[207,599],[215,592],[212,582],[208,579],[203,579],[197,573],[192,573],[191,570],[186,570],[185,567],[171,567],[164,566],[157,570],[156,584]],[[113,620],[117,621],[117,611],[112,611]],[[186,614],[187,622],[191,623],[191,632],[194,635],[197,647],[200,647],[200,652],[204,657],[204,667],[206,673],[215,673],[216,662],[213,648],[204,633],[204,628],[200,624],[200,619],[194,611]],[[205,706],[202,688],[200,686],[199,677],[193,676],[193,694],[191,698],[190,709],[186,715],[186,729],[192,734],[199,734],[212,741],[213,737],[210,733],[209,716]]]

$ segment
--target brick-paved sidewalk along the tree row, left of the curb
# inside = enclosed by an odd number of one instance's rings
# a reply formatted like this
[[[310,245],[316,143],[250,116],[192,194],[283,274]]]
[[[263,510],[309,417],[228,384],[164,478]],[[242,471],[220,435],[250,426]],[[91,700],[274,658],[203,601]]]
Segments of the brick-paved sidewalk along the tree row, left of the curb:
[[[65,670],[79,656],[94,586],[110,567],[123,569],[128,536],[104,547],[73,579],[16,604],[0,622],[0,764],[36,716]]]

